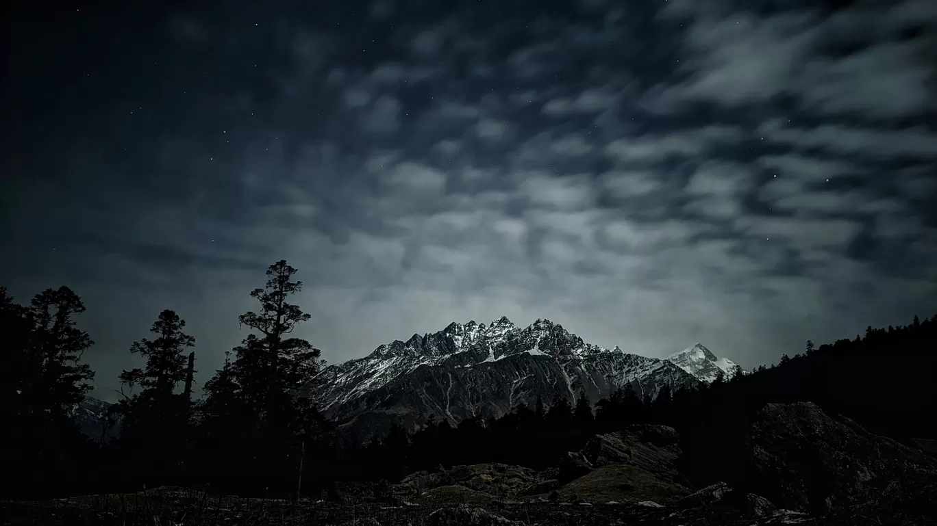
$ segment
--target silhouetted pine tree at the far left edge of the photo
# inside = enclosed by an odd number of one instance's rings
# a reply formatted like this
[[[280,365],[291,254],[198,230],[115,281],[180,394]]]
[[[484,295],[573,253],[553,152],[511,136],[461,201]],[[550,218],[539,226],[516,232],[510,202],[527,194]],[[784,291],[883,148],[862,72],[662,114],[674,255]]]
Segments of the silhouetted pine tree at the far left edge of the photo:
[[[94,378],[81,363],[93,342],[72,319],[83,312],[82,299],[67,286],[40,292],[28,308],[0,289],[0,337],[16,374],[7,384],[12,432],[3,448],[15,495],[74,491],[87,480],[94,450],[72,417]]]

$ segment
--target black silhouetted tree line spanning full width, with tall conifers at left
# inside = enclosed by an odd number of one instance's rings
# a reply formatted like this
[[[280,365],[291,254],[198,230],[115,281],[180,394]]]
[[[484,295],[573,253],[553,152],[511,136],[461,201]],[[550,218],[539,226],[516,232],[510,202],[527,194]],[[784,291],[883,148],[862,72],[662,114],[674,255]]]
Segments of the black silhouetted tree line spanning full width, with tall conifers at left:
[[[75,320],[84,312],[81,298],[62,286],[24,306],[0,287],[11,496],[160,485],[295,495],[336,480],[394,480],[439,465],[499,461],[542,469],[596,433],[635,423],[677,429],[682,469],[693,481],[744,483],[751,478],[751,417],[766,402],[816,402],[900,440],[937,436],[930,417],[937,414],[937,316],[915,316],[906,327],[870,327],[855,340],[808,342],[793,358],[709,386],[663,387],[654,400],[624,386],[594,407],[584,395],[574,404],[557,396],[497,420],[430,420],[411,434],[394,428],[368,444],[341,446],[335,424],[303,392],[323,363],[319,349],[290,336],[310,317],[290,303],[302,289],[295,273],[283,260],[266,270],[264,286],[250,292],[257,311],[238,318],[249,334],[226,353],[200,401],[191,396],[195,339],[178,314],[158,314],[151,337],[129,346],[145,364],[120,374],[122,399],[103,416],[105,428],[120,426],[112,440],[107,433],[85,436],[74,418],[94,378],[82,363],[93,341]]]

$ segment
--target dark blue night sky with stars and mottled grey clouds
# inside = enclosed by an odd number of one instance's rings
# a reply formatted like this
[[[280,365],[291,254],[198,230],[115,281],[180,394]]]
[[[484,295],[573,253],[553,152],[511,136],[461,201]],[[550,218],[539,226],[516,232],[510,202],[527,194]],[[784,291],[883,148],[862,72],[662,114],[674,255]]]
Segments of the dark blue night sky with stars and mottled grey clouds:
[[[0,285],[82,296],[99,397],[167,308],[204,382],[278,259],[330,362],[507,315],[750,368],[937,312],[937,2],[21,4]]]

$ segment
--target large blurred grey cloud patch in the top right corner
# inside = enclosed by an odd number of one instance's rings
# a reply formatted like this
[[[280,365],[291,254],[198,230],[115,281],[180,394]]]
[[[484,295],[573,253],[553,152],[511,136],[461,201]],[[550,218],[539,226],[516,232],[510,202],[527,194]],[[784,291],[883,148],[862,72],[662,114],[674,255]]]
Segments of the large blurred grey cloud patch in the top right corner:
[[[924,14],[922,2],[887,9],[853,4],[833,16],[808,5],[769,14],[733,7],[667,3],[661,18],[683,32],[682,48],[675,75],[657,87],[648,108],[671,111],[700,100],[738,107],[790,97],[803,110],[831,116],[891,120],[934,110],[932,37],[907,33],[921,26],[908,14]]]

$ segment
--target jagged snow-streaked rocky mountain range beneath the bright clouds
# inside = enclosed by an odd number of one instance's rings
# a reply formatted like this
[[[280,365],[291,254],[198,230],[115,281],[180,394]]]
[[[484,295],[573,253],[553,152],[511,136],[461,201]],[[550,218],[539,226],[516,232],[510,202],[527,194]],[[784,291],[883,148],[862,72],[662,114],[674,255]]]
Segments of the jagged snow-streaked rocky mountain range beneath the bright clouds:
[[[532,407],[538,397],[549,403],[557,393],[573,403],[585,392],[595,403],[631,384],[638,396],[653,399],[663,386],[692,387],[715,377],[712,367],[734,365],[720,358],[676,359],[585,343],[549,320],[522,329],[501,317],[487,326],[453,323],[380,345],[364,358],[326,367],[308,392],[324,415],[366,440],[393,423],[414,430],[429,416],[452,424],[498,417],[521,403]]]

